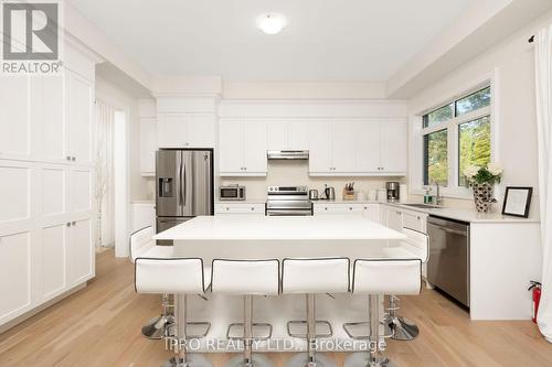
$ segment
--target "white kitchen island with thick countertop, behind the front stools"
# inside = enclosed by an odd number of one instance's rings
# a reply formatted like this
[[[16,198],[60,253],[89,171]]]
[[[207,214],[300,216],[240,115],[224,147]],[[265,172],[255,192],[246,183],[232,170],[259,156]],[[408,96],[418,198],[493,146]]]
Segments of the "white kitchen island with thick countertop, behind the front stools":
[[[352,263],[358,258],[386,257],[385,249],[405,238],[402,233],[368,218],[341,215],[201,216],[155,236],[155,239],[173,240],[176,257],[199,257],[205,267],[210,267],[213,259],[282,260],[286,257],[348,257]],[[317,302],[317,319],[332,323],[332,339],[348,338],[342,330],[343,323],[368,317],[367,296],[320,294]],[[225,339],[227,325],[242,321],[242,298],[220,294],[209,294],[208,301],[189,298],[188,314],[189,321],[212,323],[208,338],[200,342],[200,352],[232,352],[232,347],[220,350],[220,344],[212,349],[208,341]],[[284,339],[290,339],[286,331],[287,321],[305,319],[302,295],[256,296],[253,315],[255,322],[267,322],[274,327],[273,341],[256,343],[256,350],[305,349],[306,343],[300,339],[294,339],[293,345],[283,344]],[[331,348],[331,345],[320,346],[321,350]],[[350,346],[349,350],[353,349]]]

